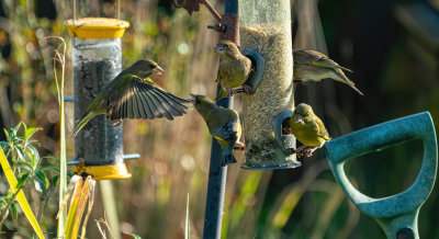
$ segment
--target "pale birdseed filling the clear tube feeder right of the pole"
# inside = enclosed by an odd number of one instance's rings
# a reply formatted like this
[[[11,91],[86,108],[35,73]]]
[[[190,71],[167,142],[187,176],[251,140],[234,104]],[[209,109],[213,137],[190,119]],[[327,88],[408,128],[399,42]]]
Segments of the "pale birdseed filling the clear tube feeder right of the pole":
[[[258,50],[266,60],[259,88],[254,94],[243,96],[246,164],[289,164],[295,157],[282,152],[274,137],[273,121],[294,104],[290,31],[274,24],[257,24],[241,26],[240,37],[243,48]]]

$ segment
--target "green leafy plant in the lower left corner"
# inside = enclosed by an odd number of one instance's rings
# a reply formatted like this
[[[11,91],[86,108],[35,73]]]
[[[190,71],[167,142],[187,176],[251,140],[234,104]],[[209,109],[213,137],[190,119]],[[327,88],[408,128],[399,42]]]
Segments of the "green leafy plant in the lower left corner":
[[[23,128],[21,130],[21,128]],[[23,190],[36,191],[40,198],[40,207],[37,213],[37,220],[42,218],[46,202],[57,191],[59,181],[59,169],[53,164],[43,166],[43,161],[53,160],[52,157],[41,158],[36,146],[40,143],[32,139],[35,133],[41,128],[29,127],[24,123],[19,123],[15,127],[4,129],[7,136],[5,141],[0,141],[0,147],[5,153],[7,159],[10,161],[12,172],[18,179],[18,192]],[[20,134],[21,133],[21,134]],[[55,159],[56,160],[56,159]],[[30,235],[26,227],[22,223],[25,220],[18,220],[18,202],[16,193],[13,193],[5,179],[2,180],[4,185],[8,185],[8,191],[4,196],[0,196],[0,229],[3,224],[9,230],[18,230],[19,234]],[[33,185],[33,186],[31,186]],[[11,215],[8,218],[8,213]],[[2,231],[3,232],[3,231]]]

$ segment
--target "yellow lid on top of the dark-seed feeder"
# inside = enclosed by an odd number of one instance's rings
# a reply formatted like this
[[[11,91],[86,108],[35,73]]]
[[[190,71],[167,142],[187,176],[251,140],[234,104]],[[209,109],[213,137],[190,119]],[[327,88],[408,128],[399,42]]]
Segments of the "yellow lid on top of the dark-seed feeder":
[[[119,38],[130,27],[130,22],[106,18],[83,18],[64,22],[70,36],[79,38]]]

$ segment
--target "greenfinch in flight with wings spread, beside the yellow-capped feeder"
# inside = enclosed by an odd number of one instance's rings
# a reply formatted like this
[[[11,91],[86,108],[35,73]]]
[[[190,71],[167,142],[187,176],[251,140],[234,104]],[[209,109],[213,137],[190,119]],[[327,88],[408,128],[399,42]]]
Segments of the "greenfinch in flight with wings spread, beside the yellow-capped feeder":
[[[94,116],[106,114],[106,118],[120,125],[123,118],[161,118],[170,121],[185,114],[190,103],[160,87],[148,77],[162,75],[164,69],[155,61],[140,59],[109,81],[79,122],[72,134],[79,130]]]

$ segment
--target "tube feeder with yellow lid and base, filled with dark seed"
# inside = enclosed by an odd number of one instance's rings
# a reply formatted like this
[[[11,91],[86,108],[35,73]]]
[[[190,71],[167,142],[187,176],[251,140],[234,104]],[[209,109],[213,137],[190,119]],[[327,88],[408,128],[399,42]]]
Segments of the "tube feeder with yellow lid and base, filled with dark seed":
[[[72,37],[75,118],[87,107],[105,83],[122,71],[121,37],[130,26],[126,21],[104,18],[83,18],[65,22]],[[126,179],[123,156],[122,126],[114,127],[99,115],[75,137],[75,167],[78,174],[91,174],[94,180]]]

